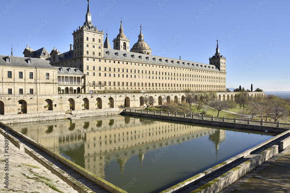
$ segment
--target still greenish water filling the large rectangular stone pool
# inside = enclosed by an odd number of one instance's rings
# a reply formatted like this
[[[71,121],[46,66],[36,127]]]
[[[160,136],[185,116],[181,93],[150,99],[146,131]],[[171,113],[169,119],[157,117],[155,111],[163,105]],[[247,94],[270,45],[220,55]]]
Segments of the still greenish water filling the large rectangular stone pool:
[[[161,192],[275,135],[121,115],[12,127],[129,193]]]

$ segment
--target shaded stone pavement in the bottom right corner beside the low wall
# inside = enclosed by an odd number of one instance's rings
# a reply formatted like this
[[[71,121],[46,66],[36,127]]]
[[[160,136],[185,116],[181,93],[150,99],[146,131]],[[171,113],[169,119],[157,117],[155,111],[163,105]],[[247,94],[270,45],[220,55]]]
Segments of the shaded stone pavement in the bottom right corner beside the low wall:
[[[262,163],[220,193],[289,193],[290,146]]]

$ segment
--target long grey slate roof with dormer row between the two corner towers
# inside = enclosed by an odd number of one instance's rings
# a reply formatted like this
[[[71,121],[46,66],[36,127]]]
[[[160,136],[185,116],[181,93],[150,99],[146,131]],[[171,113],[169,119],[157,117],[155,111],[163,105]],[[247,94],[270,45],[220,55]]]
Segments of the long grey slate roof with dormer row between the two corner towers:
[[[108,55],[107,52],[110,52],[110,55]],[[118,53],[118,56],[115,53]],[[125,54],[127,54],[127,57],[124,56]],[[134,55],[135,57],[133,58],[132,55]],[[142,59],[139,56],[142,56]],[[148,60],[147,60],[147,57],[148,57]],[[165,57],[153,56],[153,55],[148,55],[148,54],[140,54],[140,53],[135,53],[135,52],[126,52],[126,51],[108,49],[108,48],[104,48],[104,58],[112,59],[112,60],[125,60],[128,62],[135,62],[135,63],[150,63],[154,65],[164,65],[168,67],[190,68],[194,70],[209,70],[209,71],[220,72],[218,68],[215,67],[215,65],[203,64],[203,63],[197,63],[197,62],[191,62],[191,61],[179,60],[179,59],[173,59],[173,58],[165,58]],[[155,58],[155,61],[153,58]],[[160,59],[162,59],[162,61],[160,61]],[[168,63],[166,62],[166,60],[168,60]],[[179,62],[179,64],[177,62]]]

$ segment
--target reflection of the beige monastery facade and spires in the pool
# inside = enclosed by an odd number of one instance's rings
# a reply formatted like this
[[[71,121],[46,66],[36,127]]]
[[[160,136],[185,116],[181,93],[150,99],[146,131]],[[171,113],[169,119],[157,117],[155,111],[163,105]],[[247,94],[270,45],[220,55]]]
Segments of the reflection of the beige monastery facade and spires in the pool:
[[[146,152],[208,135],[217,154],[219,144],[225,140],[225,130],[218,128],[119,115],[12,127],[102,178],[113,160],[123,173],[134,155],[138,155],[142,168]]]

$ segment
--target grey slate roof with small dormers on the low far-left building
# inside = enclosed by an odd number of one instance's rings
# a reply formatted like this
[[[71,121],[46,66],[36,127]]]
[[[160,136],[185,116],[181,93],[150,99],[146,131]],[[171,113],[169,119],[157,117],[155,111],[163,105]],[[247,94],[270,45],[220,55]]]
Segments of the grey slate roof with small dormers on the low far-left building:
[[[9,56],[10,63],[6,62],[7,56],[0,55],[0,66],[26,67],[26,68],[49,68],[55,69],[51,66],[48,60],[40,58],[25,58],[17,56]],[[28,64],[28,59],[31,59],[31,64]]]

